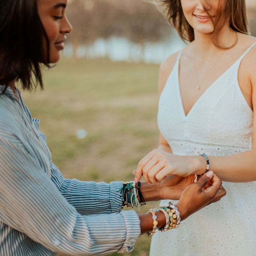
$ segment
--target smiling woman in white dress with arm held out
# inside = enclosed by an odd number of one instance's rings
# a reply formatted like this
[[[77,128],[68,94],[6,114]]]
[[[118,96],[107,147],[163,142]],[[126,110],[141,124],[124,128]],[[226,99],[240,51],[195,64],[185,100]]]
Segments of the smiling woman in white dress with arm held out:
[[[150,255],[256,255],[256,38],[245,0],[162,2],[190,43],[160,67],[160,145],[140,161],[135,180],[200,175],[210,164],[227,195],[174,236],[155,234]]]

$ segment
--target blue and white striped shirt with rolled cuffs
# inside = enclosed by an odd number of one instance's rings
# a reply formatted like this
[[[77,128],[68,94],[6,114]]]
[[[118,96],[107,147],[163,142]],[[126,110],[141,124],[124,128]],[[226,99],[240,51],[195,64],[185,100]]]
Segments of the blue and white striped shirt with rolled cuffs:
[[[131,251],[140,220],[121,211],[122,182],[64,179],[16,92],[19,99],[9,87],[0,96],[0,255]]]

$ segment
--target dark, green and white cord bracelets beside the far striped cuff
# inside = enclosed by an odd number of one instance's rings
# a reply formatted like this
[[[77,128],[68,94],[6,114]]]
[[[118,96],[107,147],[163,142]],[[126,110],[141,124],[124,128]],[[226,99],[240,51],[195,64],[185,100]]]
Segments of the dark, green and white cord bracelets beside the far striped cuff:
[[[134,181],[123,182],[123,188],[120,188],[118,192],[120,192],[120,197],[123,197],[122,208],[139,206],[138,213],[140,213],[140,205],[143,206],[146,204],[140,191],[140,181],[137,183],[137,186]],[[138,196],[140,198],[140,203]]]

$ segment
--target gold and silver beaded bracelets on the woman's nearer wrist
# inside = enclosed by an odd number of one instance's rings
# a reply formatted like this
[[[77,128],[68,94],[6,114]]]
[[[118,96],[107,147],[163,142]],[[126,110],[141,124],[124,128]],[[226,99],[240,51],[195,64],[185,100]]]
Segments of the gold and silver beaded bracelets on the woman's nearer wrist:
[[[169,204],[167,206],[159,206],[156,207],[154,209],[150,209],[148,212],[157,212],[157,211],[161,211],[164,213],[165,218],[166,218],[166,222],[165,222],[165,226],[162,228],[158,228],[159,231],[167,231],[173,228],[178,228],[180,225],[180,212],[178,211],[178,208],[173,205],[171,202],[169,202]],[[154,220],[154,218],[153,218]],[[157,223],[156,223],[157,225]],[[155,224],[154,224],[154,228],[152,231],[148,232],[147,235],[148,236],[153,236],[155,234]]]

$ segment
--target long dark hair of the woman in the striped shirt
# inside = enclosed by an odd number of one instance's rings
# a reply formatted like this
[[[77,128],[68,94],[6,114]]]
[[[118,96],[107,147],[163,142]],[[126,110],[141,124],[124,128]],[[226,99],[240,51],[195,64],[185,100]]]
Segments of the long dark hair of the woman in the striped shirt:
[[[37,0],[0,0],[0,85],[18,78],[22,89],[43,88],[42,66],[49,67],[49,40]]]

